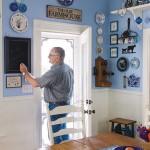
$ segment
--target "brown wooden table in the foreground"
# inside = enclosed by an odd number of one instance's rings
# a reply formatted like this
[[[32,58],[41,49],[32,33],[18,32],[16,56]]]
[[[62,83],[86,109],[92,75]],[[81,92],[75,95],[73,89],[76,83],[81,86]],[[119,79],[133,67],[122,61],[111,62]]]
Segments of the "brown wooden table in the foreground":
[[[80,140],[73,140],[58,145],[50,146],[40,150],[102,150],[110,146],[138,146],[144,150],[150,150],[150,143],[136,140],[131,137],[107,132],[97,136],[87,137]]]

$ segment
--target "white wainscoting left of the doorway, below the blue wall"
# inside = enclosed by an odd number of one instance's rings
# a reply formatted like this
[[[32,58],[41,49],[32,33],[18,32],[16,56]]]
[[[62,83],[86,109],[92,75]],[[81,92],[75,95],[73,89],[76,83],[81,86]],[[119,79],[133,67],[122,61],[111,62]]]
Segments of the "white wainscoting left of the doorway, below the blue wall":
[[[36,128],[34,99],[4,98],[0,105],[0,118],[0,150],[34,149]]]

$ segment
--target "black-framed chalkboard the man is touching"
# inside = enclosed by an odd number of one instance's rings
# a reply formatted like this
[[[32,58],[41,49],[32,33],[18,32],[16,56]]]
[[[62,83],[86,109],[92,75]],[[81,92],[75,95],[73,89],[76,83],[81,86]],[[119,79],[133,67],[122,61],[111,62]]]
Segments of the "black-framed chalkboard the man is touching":
[[[4,71],[21,73],[20,63],[24,63],[31,72],[31,38],[4,37]]]

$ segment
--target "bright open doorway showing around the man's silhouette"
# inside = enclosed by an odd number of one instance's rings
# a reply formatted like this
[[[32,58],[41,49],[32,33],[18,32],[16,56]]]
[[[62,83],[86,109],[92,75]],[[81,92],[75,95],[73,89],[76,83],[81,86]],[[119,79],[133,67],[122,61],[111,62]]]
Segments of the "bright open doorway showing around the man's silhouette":
[[[64,62],[68,64],[74,70],[74,42],[75,38],[70,37],[70,39],[66,39],[66,35],[62,35],[60,39],[60,35],[57,34],[49,34],[46,32],[42,32],[41,38],[41,73],[44,74],[51,67],[49,63],[48,54],[53,47],[62,47],[65,50],[65,60]],[[68,36],[67,36],[68,38]],[[46,59],[47,58],[47,59]],[[71,104],[74,103],[74,98],[71,99]],[[48,138],[48,130],[47,130],[47,117],[46,110],[44,104],[44,96],[43,92],[41,92],[41,110],[42,110],[42,146],[49,145]]]

